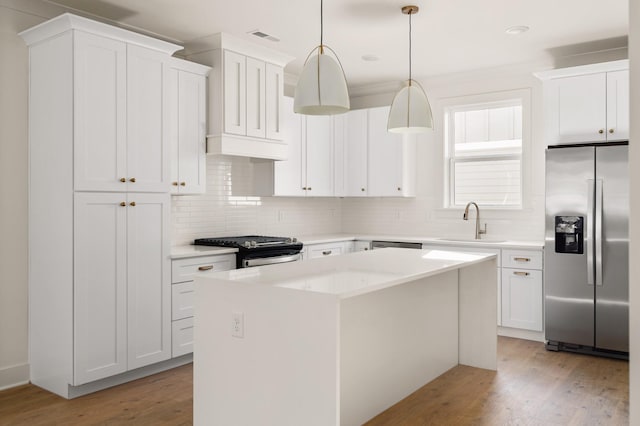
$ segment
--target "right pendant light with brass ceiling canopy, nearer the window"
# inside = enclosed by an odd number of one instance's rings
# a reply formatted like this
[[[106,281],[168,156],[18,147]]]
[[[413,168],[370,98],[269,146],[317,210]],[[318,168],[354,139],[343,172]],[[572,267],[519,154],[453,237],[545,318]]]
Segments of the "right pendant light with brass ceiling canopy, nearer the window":
[[[387,130],[393,133],[420,133],[433,129],[431,106],[420,83],[411,78],[411,15],[418,6],[404,6],[402,13],[409,15],[409,80],[393,98]]]

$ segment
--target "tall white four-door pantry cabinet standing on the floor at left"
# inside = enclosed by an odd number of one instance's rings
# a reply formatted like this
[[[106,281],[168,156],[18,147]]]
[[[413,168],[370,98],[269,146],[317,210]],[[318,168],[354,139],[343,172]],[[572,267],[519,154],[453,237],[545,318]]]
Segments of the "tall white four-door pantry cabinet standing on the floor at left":
[[[20,35],[31,381],[72,398],[170,362],[165,93],[180,46],[71,14]]]

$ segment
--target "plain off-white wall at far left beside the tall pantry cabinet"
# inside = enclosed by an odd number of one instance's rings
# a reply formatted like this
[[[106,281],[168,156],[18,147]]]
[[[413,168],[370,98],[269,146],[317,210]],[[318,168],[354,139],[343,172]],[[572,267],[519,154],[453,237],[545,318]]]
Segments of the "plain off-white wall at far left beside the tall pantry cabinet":
[[[28,53],[18,32],[54,16],[56,10],[31,0],[0,1],[0,389],[29,378]]]

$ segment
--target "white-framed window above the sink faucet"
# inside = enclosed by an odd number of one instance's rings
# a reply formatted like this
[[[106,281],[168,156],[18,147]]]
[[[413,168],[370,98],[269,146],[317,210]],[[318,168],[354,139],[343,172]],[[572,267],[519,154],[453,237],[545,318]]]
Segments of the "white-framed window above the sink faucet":
[[[522,207],[523,100],[445,108],[449,207]]]

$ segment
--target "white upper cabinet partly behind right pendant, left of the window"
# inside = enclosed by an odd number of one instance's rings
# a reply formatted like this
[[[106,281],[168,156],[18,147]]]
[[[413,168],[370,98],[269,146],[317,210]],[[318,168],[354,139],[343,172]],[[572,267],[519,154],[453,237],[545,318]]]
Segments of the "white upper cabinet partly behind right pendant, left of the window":
[[[347,114],[345,140],[346,195],[415,196],[416,140],[387,131],[389,107]]]

